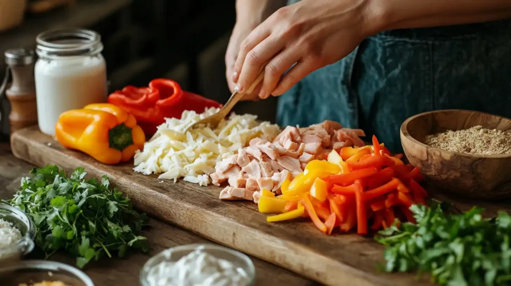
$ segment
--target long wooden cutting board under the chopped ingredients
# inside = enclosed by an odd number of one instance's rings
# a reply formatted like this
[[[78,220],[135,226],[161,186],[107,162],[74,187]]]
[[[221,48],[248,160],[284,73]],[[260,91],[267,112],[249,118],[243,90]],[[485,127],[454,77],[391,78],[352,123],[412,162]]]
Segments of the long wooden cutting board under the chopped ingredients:
[[[311,222],[266,222],[267,215],[248,201],[222,201],[221,188],[199,187],[182,180],[157,179],[134,173],[132,163],[103,165],[88,155],[68,150],[37,126],[12,135],[14,155],[36,166],[56,164],[71,172],[77,167],[111,183],[151,216],[198,235],[290,269],[329,285],[431,285],[416,274],[382,273],[383,246],[356,234],[327,236]],[[424,275],[427,276],[427,275]]]

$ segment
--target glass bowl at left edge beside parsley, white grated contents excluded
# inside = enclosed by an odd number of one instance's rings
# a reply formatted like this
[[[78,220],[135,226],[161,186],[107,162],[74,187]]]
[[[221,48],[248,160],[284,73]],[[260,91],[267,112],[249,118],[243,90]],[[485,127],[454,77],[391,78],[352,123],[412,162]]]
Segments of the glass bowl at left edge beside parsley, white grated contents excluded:
[[[12,247],[0,249],[0,262],[19,259],[34,249],[36,227],[32,219],[17,207],[0,203],[0,219],[8,221],[21,232],[21,239]]]

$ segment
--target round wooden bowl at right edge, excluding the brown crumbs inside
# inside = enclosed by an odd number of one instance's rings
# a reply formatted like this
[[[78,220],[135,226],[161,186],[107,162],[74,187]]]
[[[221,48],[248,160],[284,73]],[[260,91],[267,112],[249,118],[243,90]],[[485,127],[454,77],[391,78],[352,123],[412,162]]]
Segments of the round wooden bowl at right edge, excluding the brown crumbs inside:
[[[426,136],[481,125],[511,133],[511,119],[468,110],[417,114],[401,125],[401,144],[408,161],[438,189],[478,199],[511,198],[511,154],[473,155],[424,144]]]

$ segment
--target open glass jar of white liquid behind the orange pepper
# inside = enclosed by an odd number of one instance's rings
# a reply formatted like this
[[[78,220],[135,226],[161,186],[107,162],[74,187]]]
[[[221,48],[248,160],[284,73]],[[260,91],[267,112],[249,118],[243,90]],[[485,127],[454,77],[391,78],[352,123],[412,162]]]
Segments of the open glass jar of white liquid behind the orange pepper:
[[[39,128],[55,135],[60,114],[106,101],[106,64],[98,33],[61,29],[37,36],[35,86]]]

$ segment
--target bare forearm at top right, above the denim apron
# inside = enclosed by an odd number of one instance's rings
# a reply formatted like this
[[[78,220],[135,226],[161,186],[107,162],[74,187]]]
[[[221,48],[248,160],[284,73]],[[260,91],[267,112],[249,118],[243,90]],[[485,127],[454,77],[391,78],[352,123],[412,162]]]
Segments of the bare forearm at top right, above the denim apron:
[[[367,0],[374,32],[485,22],[511,17],[508,0]]]

